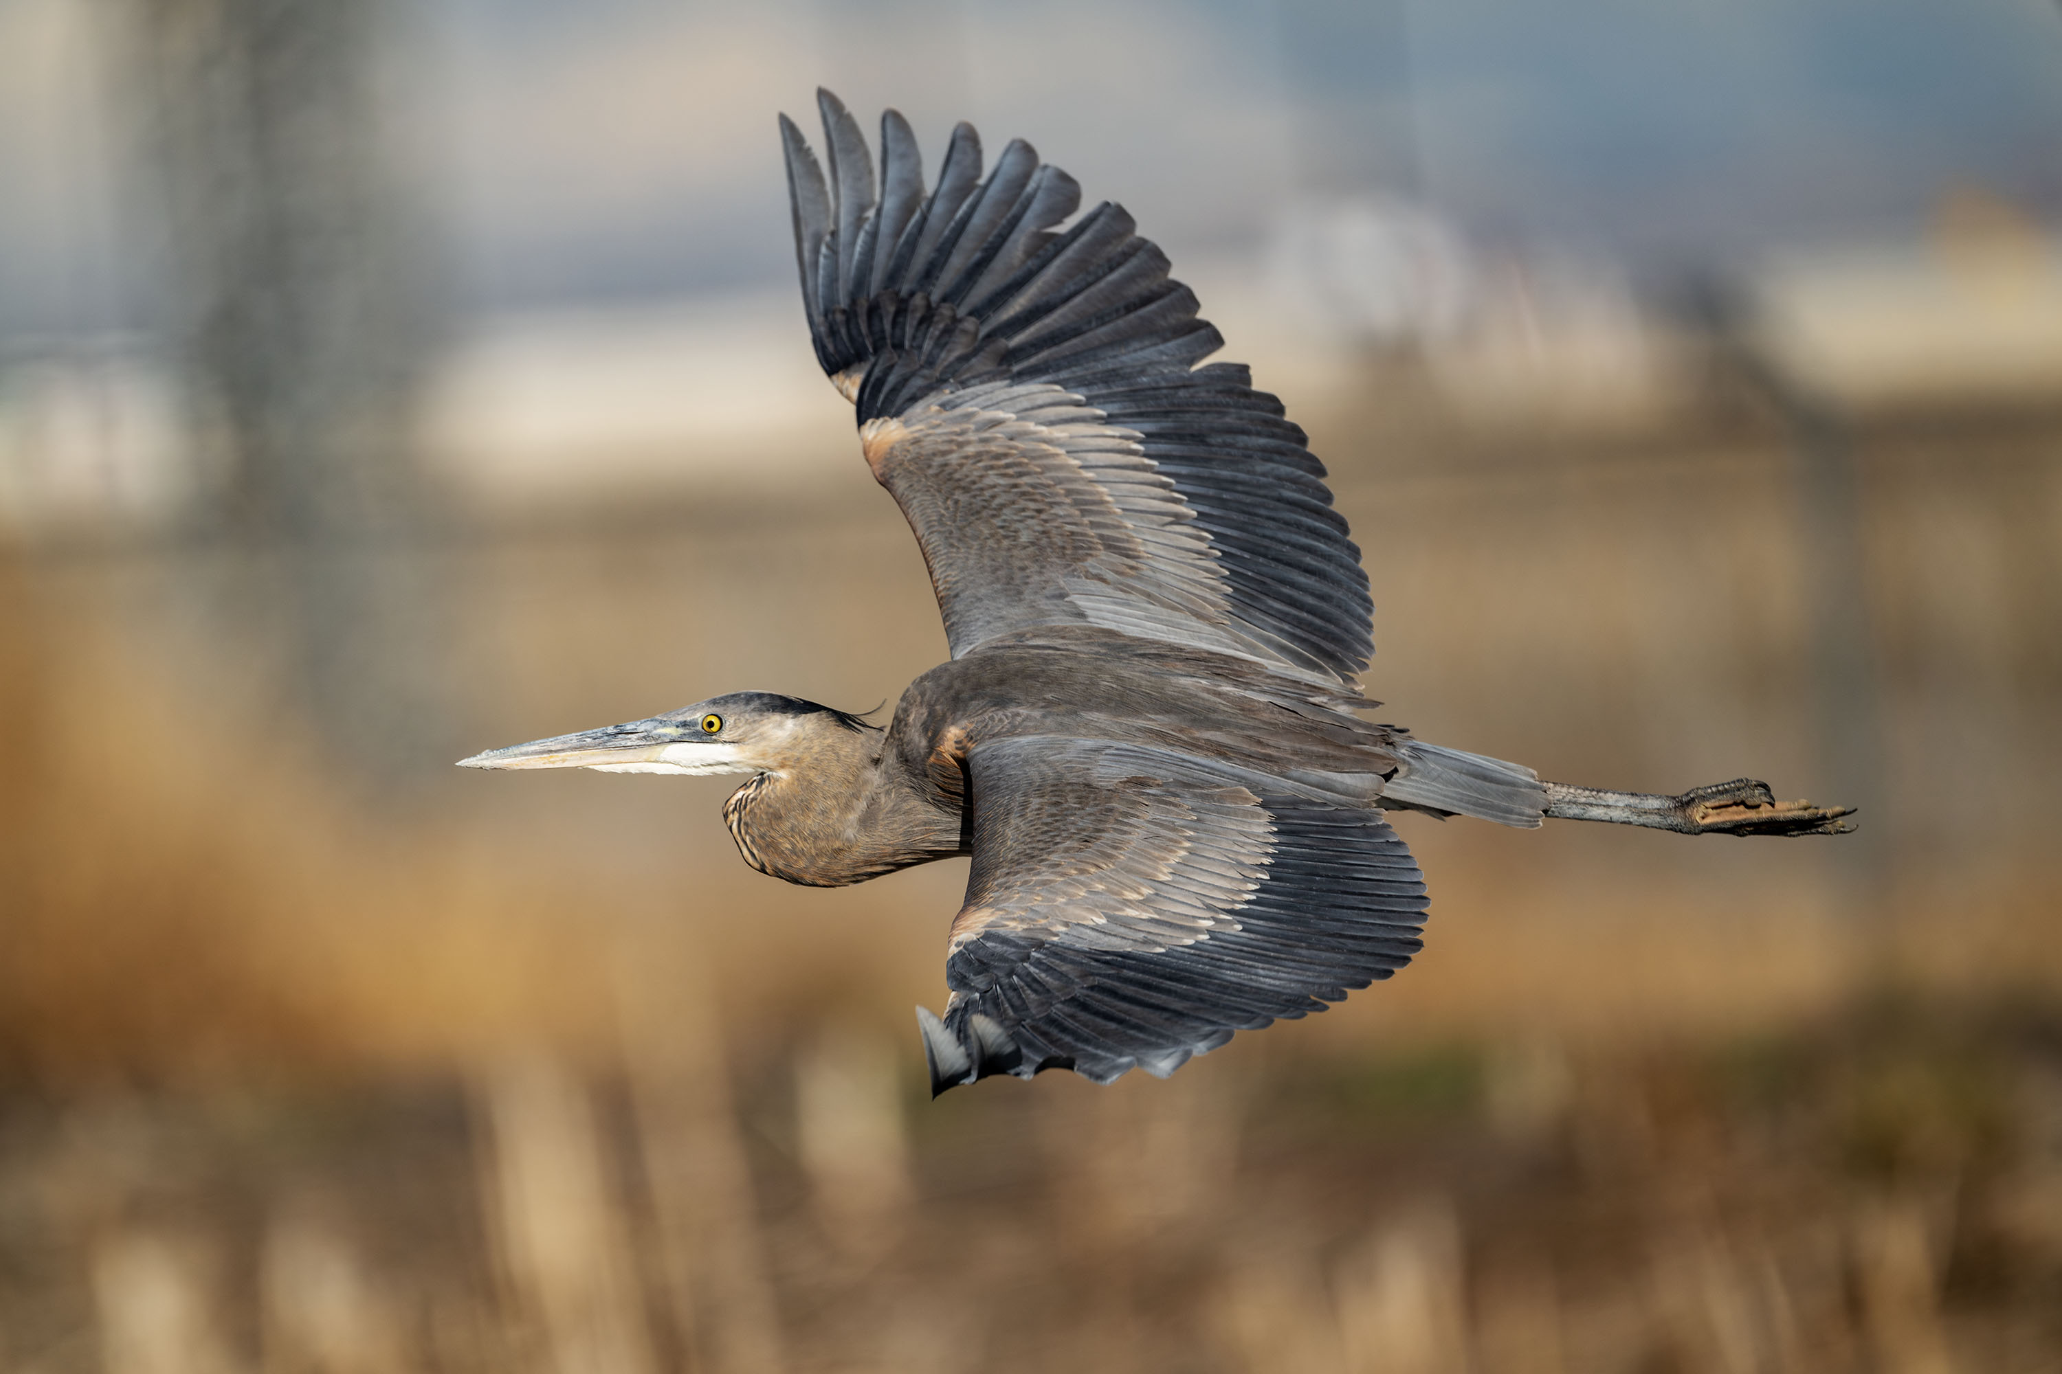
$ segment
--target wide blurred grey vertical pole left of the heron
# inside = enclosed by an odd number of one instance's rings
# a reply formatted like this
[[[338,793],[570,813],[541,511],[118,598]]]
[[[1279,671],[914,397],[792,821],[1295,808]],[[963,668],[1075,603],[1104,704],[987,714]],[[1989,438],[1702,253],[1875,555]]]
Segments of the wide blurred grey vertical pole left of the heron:
[[[130,0],[163,177],[171,332],[233,550],[227,643],[285,669],[338,762],[445,762],[441,597],[414,538],[408,406],[429,344],[388,126],[388,0]]]

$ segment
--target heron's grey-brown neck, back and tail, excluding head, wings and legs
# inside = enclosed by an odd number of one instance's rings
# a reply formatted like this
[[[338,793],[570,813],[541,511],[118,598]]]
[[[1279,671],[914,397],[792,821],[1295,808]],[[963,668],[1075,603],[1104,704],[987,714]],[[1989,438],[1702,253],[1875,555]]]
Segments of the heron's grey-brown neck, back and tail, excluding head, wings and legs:
[[[885,731],[825,717],[808,768],[757,772],[724,820],[744,861],[786,882],[839,888],[969,853],[965,770],[984,744],[1066,737],[1217,758],[1346,803],[1536,826],[1544,787],[1503,764],[1410,740],[1349,715],[1353,698],[1285,682],[1219,653],[1064,626],[1010,634],[930,669]],[[1400,793],[1456,781],[1445,808]],[[1417,789],[1412,789],[1417,783]]]

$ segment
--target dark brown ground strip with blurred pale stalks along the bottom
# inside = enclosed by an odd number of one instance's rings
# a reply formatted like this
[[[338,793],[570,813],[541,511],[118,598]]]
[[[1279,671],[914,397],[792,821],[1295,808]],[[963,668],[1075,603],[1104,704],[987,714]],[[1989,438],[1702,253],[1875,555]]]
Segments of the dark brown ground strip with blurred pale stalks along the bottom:
[[[10,1368],[2056,1368],[2052,1011],[1268,1067],[16,1100]]]

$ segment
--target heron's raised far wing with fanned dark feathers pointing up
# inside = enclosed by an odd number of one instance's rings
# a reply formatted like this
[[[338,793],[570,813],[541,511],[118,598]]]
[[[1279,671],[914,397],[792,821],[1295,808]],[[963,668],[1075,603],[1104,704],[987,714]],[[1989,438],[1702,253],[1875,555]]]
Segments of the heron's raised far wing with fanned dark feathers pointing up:
[[[1099,624],[1326,684],[1373,653],[1367,575],[1324,466],[1113,204],[961,124],[926,194],[916,138],[819,91],[829,181],[781,115],[817,358],[916,529],[953,657]]]

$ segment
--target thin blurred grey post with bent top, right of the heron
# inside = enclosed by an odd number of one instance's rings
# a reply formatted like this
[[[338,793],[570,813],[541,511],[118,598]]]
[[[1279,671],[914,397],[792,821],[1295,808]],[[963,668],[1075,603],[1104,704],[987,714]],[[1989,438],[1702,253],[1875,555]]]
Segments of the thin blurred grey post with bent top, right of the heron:
[[[1883,787],[1883,702],[1854,435],[1831,402],[1767,356],[1738,288],[1699,282],[1689,305],[1720,371],[1773,410],[1790,443],[1804,534],[1800,566],[1825,797],[1858,812],[1858,832],[1833,849],[1848,873],[1845,900],[1866,911],[1885,896],[1891,818]]]

